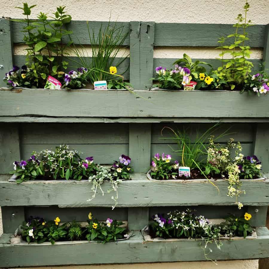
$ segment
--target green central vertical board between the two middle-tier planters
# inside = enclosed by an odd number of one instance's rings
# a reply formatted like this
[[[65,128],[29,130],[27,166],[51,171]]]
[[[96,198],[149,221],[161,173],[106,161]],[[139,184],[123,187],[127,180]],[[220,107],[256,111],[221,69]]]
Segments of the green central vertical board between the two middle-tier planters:
[[[147,172],[150,164],[150,123],[129,124],[129,156],[135,172]]]

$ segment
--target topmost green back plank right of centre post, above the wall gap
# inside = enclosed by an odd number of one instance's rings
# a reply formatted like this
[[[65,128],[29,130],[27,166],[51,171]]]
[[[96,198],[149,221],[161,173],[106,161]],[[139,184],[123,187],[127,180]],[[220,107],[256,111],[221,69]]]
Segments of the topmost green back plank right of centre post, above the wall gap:
[[[251,47],[263,48],[265,27],[266,25],[249,27],[247,32],[250,40],[246,44]],[[218,47],[218,38],[228,36],[234,31],[232,24],[155,23],[154,45]]]

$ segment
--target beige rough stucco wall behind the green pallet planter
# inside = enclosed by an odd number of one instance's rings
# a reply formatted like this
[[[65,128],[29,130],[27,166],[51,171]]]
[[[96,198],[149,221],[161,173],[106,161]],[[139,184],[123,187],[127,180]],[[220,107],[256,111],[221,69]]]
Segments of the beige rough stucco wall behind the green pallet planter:
[[[33,10],[33,17],[39,11],[54,12],[59,4],[67,6],[66,11],[74,20],[107,21],[111,12],[111,21],[155,21],[155,22],[181,22],[181,23],[233,23],[238,13],[242,13],[243,0],[189,0],[189,1],[160,1],[160,0],[30,0],[29,4],[37,4]],[[268,0],[249,1],[251,7],[248,19],[255,24],[268,24]],[[21,10],[14,6],[21,6],[22,1],[0,0],[0,16],[21,18]],[[221,33],[220,33],[221,35]],[[16,46],[15,53],[23,54],[23,47]],[[89,50],[90,51],[90,50]],[[215,58],[217,52],[214,48],[155,48],[156,58],[180,58],[186,52],[193,58]],[[254,49],[251,59],[262,59],[262,50]],[[1,210],[1,209],[0,209]],[[0,234],[1,214],[0,214]],[[77,266],[76,269],[258,269],[258,260],[218,262],[218,266],[212,262],[176,262],[163,264],[139,264],[139,265],[99,265]],[[46,267],[47,268],[47,267]],[[57,267],[48,267],[57,268]],[[69,267],[68,267],[69,268]]]

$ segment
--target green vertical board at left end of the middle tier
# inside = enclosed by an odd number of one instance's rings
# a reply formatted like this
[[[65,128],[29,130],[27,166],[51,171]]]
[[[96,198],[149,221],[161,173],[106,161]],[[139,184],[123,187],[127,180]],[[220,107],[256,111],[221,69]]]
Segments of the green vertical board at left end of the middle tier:
[[[19,124],[0,124],[0,174],[13,170],[13,162],[20,161]]]

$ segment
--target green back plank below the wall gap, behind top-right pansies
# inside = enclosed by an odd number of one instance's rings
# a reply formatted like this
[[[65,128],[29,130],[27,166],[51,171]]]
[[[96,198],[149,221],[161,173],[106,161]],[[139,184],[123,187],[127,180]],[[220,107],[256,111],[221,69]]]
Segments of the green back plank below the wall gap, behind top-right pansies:
[[[201,51],[202,53],[202,51]],[[156,70],[155,68],[157,66],[163,66],[166,67],[167,69],[174,69],[175,66],[173,65],[173,63],[178,60],[176,58],[154,58],[153,59],[153,77],[156,77]],[[207,62],[210,65],[212,65],[212,67],[214,69],[218,68],[219,66],[221,66],[221,62],[218,59],[192,59],[193,62],[195,62],[196,60],[199,61],[203,61],[203,62]],[[250,62],[253,63],[254,67],[253,70],[260,70],[260,64],[262,64],[262,60],[260,59],[250,59]],[[207,65],[203,65],[207,71],[210,71],[211,67],[207,66]]]

